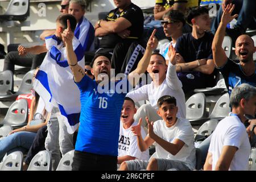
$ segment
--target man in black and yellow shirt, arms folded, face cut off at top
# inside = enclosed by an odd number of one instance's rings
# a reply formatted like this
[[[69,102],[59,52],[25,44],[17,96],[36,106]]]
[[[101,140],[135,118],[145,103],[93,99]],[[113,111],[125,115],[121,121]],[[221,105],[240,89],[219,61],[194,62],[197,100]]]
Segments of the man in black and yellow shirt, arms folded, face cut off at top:
[[[128,74],[137,67],[144,53],[141,44],[144,16],[131,0],[114,3],[117,8],[95,24],[95,35],[101,37],[100,48],[113,51],[111,62],[115,73]]]

